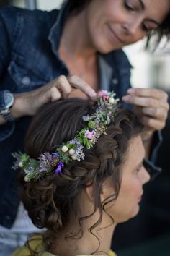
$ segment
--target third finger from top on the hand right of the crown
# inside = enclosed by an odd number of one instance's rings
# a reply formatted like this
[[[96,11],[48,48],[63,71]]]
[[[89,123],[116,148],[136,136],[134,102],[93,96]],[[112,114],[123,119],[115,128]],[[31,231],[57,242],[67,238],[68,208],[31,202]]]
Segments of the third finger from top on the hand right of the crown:
[[[165,120],[168,112],[164,108],[141,108],[142,113],[147,116],[152,116],[154,119]]]

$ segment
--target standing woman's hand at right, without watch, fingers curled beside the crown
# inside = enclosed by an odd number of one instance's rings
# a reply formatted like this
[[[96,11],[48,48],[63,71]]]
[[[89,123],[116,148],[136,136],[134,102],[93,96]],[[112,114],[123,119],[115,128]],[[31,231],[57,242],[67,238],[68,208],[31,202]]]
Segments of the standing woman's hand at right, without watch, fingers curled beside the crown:
[[[147,136],[165,127],[169,104],[168,95],[163,90],[130,88],[122,97],[125,103],[133,104],[142,124],[146,127]]]

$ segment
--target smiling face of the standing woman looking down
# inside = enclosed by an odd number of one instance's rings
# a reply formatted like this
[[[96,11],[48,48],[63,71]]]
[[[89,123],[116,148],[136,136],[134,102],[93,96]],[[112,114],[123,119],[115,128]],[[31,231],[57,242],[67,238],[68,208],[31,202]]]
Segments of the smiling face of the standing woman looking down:
[[[155,30],[170,11],[169,0],[91,0],[86,24],[102,53],[122,48]]]

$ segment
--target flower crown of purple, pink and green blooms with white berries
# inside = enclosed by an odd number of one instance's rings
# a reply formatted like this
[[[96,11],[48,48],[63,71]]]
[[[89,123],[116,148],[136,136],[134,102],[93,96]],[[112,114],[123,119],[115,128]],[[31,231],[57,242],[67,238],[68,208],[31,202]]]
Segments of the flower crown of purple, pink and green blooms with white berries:
[[[26,153],[12,153],[16,158],[13,169],[22,168],[25,182],[38,181],[51,174],[62,174],[62,169],[69,161],[84,159],[84,147],[91,148],[115,119],[117,102],[115,93],[102,90],[98,93],[97,108],[91,116],[83,116],[86,127],[77,132],[73,140],[57,146],[52,153],[41,153],[36,159]]]

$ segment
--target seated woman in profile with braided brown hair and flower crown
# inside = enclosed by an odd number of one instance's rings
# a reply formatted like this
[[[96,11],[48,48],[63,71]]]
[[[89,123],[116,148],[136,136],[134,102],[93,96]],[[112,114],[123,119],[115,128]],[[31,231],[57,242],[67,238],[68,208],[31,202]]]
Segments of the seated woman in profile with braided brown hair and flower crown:
[[[138,119],[114,93],[97,103],[66,99],[43,106],[16,153],[21,196],[32,222],[45,228],[13,256],[115,255],[117,223],[138,213],[145,150]]]

